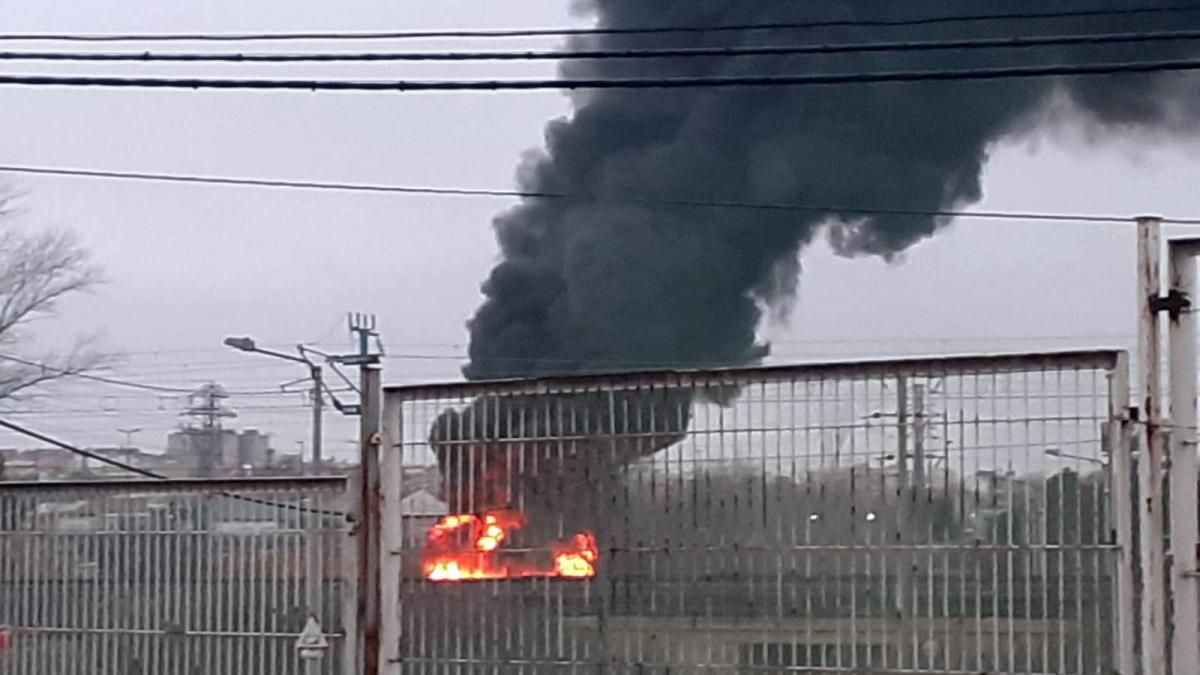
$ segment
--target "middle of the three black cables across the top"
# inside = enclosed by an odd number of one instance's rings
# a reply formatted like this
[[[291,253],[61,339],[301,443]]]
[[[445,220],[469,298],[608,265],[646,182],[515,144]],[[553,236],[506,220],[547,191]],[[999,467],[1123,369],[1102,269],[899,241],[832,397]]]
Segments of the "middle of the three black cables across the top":
[[[1026,49],[1032,47],[1105,46],[1145,42],[1192,42],[1200,31],[1112,32],[988,37],[971,40],[852,42],[832,44],[763,44],[752,47],[685,47],[668,49],[546,49],[524,52],[324,52],[324,53],[187,53],[187,52],[0,52],[0,61],[136,61],[136,62],[378,62],[378,61],[546,61],[602,59],[677,59],[709,56],[787,56],[872,52],[931,52],[952,49]]]

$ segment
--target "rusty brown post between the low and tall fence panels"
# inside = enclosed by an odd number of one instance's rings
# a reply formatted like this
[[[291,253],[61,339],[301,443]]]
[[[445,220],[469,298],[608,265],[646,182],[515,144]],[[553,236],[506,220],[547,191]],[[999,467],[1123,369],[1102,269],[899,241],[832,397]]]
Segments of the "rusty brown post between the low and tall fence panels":
[[[379,629],[382,613],[379,552],[382,543],[383,485],[379,467],[380,372],[364,365],[361,370],[362,417],[360,419],[359,519],[358,546],[358,629],[362,675],[380,675]]]

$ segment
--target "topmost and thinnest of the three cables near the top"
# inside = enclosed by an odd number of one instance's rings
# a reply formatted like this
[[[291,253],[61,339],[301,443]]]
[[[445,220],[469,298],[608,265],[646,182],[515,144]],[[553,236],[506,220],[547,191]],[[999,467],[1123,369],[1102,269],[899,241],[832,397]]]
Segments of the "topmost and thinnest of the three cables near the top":
[[[1165,7],[1118,7],[1109,10],[1001,12],[990,14],[935,14],[910,18],[824,19],[808,22],[744,23],[724,25],[664,25],[643,28],[517,28],[449,29],[394,31],[308,31],[308,32],[158,32],[158,34],[0,34],[0,41],[44,42],[287,42],[323,40],[425,40],[425,38],[499,38],[499,37],[572,37],[589,35],[670,35],[745,31],[808,30],[822,28],[902,28],[954,23],[988,23],[1043,19],[1120,18],[1140,16],[1186,14],[1200,12],[1196,5]]]

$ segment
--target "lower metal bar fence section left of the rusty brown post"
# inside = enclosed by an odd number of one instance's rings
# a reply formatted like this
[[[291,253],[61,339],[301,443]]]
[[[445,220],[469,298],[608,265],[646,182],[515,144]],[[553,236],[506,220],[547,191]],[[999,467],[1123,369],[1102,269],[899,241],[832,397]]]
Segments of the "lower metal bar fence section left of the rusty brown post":
[[[0,673],[340,671],[344,483],[0,483]]]

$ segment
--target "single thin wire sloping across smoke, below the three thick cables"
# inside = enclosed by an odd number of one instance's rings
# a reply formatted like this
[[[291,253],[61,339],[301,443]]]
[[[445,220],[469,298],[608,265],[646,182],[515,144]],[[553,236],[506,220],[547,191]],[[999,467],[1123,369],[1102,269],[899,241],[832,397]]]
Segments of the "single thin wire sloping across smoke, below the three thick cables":
[[[524,198],[524,199],[562,199],[577,202],[602,202],[620,203],[643,207],[674,207],[674,208],[712,208],[712,209],[745,209],[764,211],[794,211],[809,214],[853,214],[853,215],[893,215],[893,216],[925,216],[925,217],[958,217],[973,220],[1026,220],[1026,221],[1052,221],[1052,222],[1093,222],[1128,225],[1134,222],[1133,216],[1103,215],[1103,214],[1051,214],[1036,211],[966,211],[954,209],[889,209],[884,207],[853,207],[848,204],[798,204],[786,202],[740,202],[740,201],[703,201],[703,199],[655,199],[640,197],[596,197],[590,195],[572,195],[566,192],[544,192],[530,190],[492,190],[473,187],[431,187],[412,185],[385,185],[366,183],[340,183],[340,181],[314,181],[314,180],[284,180],[265,178],[234,178],[218,175],[194,175],[175,173],[150,173],[150,172],[124,172],[101,171],[82,168],[60,167],[32,167],[18,165],[0,165],[0,173],[16,173],[26,175],[58,175],[70,178],[94,178],[104,180],[133,180],[145,183],[169,183],[191,185],[223,185],[238,187],[268,187],[284,190],[316,190],[335,192],[371,192],[412,196],[448,196],[448,197],[496,197],[496,198]],[[1164,217],[1163,222],[1174,225],[1200,225],[1198,219]]]

